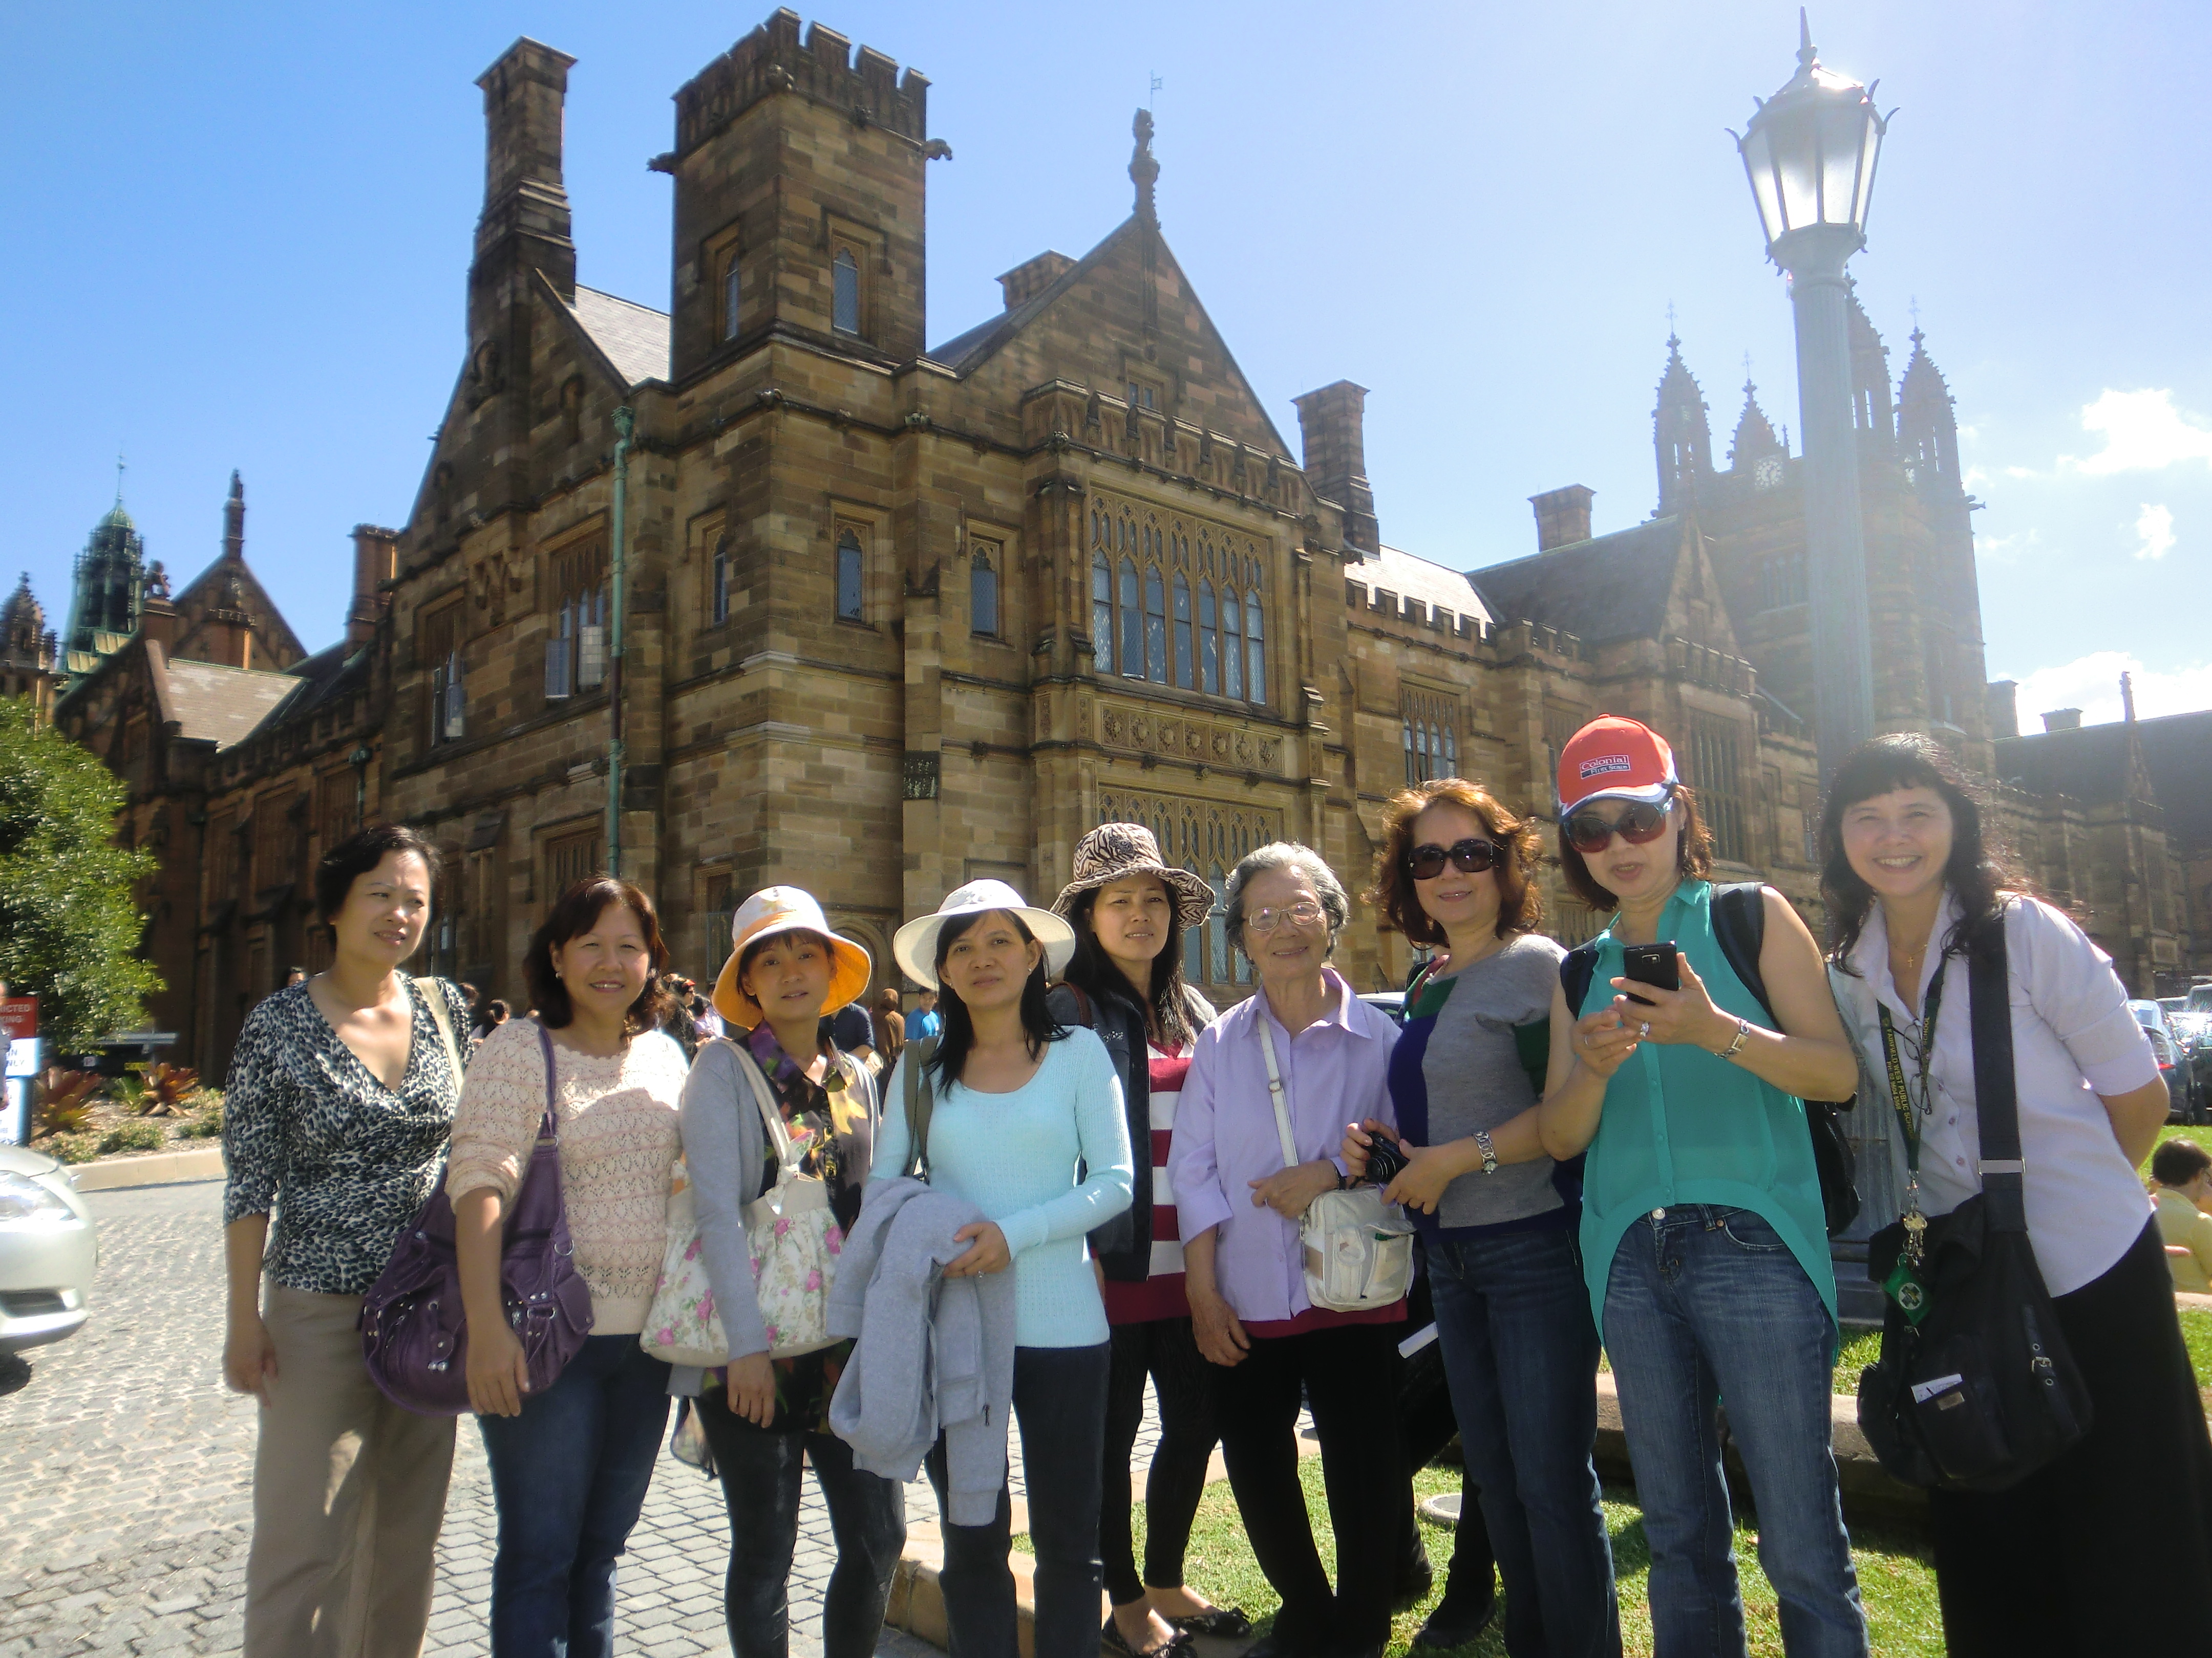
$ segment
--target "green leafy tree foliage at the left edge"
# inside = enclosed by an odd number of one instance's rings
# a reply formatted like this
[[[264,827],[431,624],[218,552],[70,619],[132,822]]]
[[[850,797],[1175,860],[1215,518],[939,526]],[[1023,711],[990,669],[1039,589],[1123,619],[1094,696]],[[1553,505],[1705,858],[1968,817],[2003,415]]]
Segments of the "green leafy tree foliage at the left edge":
[[[0,699],[0,979],[40,997],[49,1052],[80,1052],[146,1019],[161,977],[139,959],[133,884],[148,851],[115,844],[122,780],[24,699]]]

